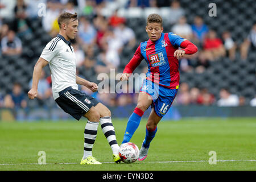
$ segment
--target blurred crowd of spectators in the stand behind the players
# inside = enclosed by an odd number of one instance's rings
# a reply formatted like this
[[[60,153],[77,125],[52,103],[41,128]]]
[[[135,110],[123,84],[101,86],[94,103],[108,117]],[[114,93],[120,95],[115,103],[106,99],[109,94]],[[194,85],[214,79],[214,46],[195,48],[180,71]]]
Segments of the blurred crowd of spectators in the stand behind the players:
[[[222,35],[218,36],[216,30],[210,29],[201,16],[196,15],[193,24],[188,24],[185,10],[176,0],[2,0],[0,2],[0,56],[22,53],[20,38],[33,34],[34,30],[31,28],[33,20],[40,18],[43,30],[54,38],[59,33],[57,17],[64,11],[77,12],[79,34],[72,42],[77,56],[77,74],[80,74],[80,70],[84,70],[89,75],[81,75],[81,77],[91,80],[100,73],[109,73],[111,68],[120,71],[119,65],[122,61],[120,55],[123,49],[129,50],[132,56],[139,44],[134,30],[127,26],[127,19],[118,14],[118,9],[121,7],[126,9],[168,7],[168,13],[171,16],[168,16],[164,24],[168,24],[170,30],[164,30],[164,32],[174,32],[195,43],[199,48],[195,55],[185,55],[179,60],[181,75],[183,72],[203,73],[210,67],[211,61],[219,61],[223,57],[234,60],[237,52],[240,59],[246,61],[248,50],[256,49],[256,23],[251,26],[246,39],[241,44],[237,44],[229,31],[223,31]],[[11,19],[11,23],[5,23],[5,19]],[[142,72],[146,73],[147,68],[143,68]],[[80,89],[108,106],[137,104],[138,94],[92,93],[85,86],[80,86]],[[26,109],[30,101],[23,91],[22,85],[14,81],[11,93],[5,96],[0,94],[0,107]],[[39,81],[37,105],[45,106],[54,103],[51,92],[51,77],[43,72]],[[222,88],[217,99],[208,88],[189,88],[186,82],[182,82],[174,105],[191,104],[242,106],[245,105],[245,98],[230,93],[228,88]],[[256,96],[250,101],[250,105],[256,106]]]

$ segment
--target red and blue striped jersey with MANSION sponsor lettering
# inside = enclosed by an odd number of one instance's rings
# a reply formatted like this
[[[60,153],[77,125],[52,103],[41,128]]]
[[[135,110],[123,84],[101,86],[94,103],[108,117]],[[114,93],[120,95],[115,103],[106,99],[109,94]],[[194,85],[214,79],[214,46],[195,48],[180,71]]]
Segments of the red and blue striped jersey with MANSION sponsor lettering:
[[[133,56],[137,60],[135,67],[145,59],[148,66],[147,80],[170,89],[179,88],[179,60],[174,57],[174,52],[184,40],[186,39],[169,32],[162,33],[161,38],[155,42],[150,39],[142,42]],[[129,73],[133,70],[127,67],[123,72]]]

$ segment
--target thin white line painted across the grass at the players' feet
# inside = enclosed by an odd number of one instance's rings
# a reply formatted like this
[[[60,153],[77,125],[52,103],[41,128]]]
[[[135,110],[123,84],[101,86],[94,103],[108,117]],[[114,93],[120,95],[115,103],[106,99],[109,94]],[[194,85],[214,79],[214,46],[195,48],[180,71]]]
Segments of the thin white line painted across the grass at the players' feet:
[[[146,163],[202,163],[208,160],[188,160],[188,161],[159,161]],[[216,160],[216,162],[256,162],[256,160]],[[104,164],[114,164],[114,162],[102,162]],[[46,163],[46,164],[79,164],[79,163]],[[39,165],[38,163],[20,163],[20,164],[0,164],[0,166],[8,165]]]

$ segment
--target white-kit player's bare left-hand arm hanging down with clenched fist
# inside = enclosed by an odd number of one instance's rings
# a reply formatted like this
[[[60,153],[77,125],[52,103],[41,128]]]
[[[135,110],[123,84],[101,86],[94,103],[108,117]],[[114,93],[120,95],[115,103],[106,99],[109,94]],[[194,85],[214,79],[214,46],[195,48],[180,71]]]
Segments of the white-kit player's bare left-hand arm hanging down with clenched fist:
[[[32,76],[32,88],[30,91],[28,91],[27,95],[28,98],[34,99],[38,95],[38,82],[41,76],[42,69],[46,67],[48,64],[48,61],[44,60],[42,57],[38,59],[38,62],[36,62],[33,76]]]

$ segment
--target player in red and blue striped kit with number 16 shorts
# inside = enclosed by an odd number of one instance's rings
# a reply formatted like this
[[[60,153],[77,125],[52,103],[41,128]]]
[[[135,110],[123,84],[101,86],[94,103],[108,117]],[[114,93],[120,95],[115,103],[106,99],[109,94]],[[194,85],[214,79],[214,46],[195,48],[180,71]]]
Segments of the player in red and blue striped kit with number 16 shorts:
[[[139,159],[144,160],[148,154],[150,142],[158,130],[157,125],[170,109],[179,89],[179,58],[197,52],[197,47],[176,34],[163,33],[163,20],[158,14],[147,17],[146,32],[149,39],[139,44],[133,58],[126,65],[120,80],[127,80],[130,73],[143,59],[148,65],[146,79],[135,107],[127,122],[123,143],[129,142],[141,122],[144,111],[151,105],[152,110],[146,124],[146,136],[143,140]],[[179,47],[181,49],[179,49]]]

